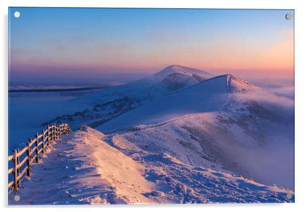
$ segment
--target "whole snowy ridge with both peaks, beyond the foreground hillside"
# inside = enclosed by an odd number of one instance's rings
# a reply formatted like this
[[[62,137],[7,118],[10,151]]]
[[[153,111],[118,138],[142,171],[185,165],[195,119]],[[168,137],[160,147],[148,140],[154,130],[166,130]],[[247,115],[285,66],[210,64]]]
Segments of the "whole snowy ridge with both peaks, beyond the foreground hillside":
[[[270,165],[267,162],[252,164],[252,156],[278,154],[279,158],[283,154],[280,148],[292,148],[292,131],[285,129],[294,126],[293,115],[280,102],[291,106],[293,100],[231,74],[205,78],[207,73],[199,71],[169,66],[142,80],[76,98],[71,102],[93,108],[64,118],[71,118],[66,122],[76,128],[88,124],[108,134],[114,147],[113,141],[144,151],[145,146],[152,147],[151,153],[166,152],[190,166],[242,174],[271,184],[276,182],[274,174],[293,173],[291,166],[276,170],[278,167],[265,167]],[[291,158],[287,154],[282,160],[290,163]],[[274,173],[251,170],[259,166]],[[279,179],[277,184],[293,189],[292,182]]]

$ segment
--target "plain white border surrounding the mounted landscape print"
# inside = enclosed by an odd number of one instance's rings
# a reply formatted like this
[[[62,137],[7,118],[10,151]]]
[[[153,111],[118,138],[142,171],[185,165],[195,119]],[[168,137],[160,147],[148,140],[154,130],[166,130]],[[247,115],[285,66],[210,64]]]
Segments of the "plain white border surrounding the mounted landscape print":
[[[1,110],[0,110],[0,135],[2,144],[2,168],[1,177],[1,206],[6,207],[5,211],[29,210],[41,211],[41,207],[32,206],[25,208],[7,206],[7,142],[8,142],[8,7],[150,7],[150,8],[240,8],[240,9],[295,9],[295,202],[292,204],[215,204],[215,205],[111,205],[111,206],[44,206],[44,211],[66,211],[73,207],[73,211],[95,210],[127,210],[127,211],[259,211],[259,210],[278,210],[278,211],[299,211],[306,208],[307,202],[307,129],[306,119],[306,23],[307,11],[303,5],[304,1],[196,1],[196,0],[1,0]],[[72,208],[71,208],[72,209]],[[70,209],[70,210],[71,210]]]

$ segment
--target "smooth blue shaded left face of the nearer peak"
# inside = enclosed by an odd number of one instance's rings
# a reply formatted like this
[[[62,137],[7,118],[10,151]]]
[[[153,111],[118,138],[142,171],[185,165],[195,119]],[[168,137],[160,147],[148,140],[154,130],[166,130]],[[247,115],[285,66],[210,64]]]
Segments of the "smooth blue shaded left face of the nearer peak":
[[[99,127],[113,131],[140,124],[154,124],[192,113],[217,111],[227,99],[227,76],[219,76],[194,86],[161,96]]]

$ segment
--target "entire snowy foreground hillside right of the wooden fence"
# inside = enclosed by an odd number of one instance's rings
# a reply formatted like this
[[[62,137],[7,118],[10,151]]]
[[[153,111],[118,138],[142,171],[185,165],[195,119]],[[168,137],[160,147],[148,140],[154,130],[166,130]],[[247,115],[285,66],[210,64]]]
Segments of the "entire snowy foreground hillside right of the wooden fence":
[[[10,204],[293,202],[294,193],[229,171],[183,163],[151,143],[131,143],[85,127],[53,144]],[[112,146],[113,147],[112,147]]]

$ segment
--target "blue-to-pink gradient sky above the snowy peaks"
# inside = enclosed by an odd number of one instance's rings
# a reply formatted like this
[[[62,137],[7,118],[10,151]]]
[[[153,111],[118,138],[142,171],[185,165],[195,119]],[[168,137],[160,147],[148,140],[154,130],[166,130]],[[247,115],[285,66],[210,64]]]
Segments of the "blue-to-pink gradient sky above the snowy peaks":
[[[286,13],[294,17],[293,10],[10,8],[10,82],[115,85],[172,64],[293,79],[294,18]]]

